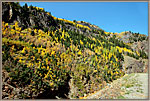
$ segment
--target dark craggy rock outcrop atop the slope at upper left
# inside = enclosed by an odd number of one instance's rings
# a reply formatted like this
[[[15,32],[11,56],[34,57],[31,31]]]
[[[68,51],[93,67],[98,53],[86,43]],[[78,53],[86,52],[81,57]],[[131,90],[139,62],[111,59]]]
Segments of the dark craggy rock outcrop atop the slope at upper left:
[[[19,9],[15,9],[15,7],[19,7]],[[4,22],[11,22],[12,24],[14,21],[18,21],[18,25],[23,29],[31,26],[38,26],[39,29],[44,30],[46,27],[49,28],[50,25],[57,26],[53,17],[46,14],[45,11],[37,12],[36,9],[31,8],[26,8],[25,10],[24,7],[13,2],[2,3],[2,18]]]

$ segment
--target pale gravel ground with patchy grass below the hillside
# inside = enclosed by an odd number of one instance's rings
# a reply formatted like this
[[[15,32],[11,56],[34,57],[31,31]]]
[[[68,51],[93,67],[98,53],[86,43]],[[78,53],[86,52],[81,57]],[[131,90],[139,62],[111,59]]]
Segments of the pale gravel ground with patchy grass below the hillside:
[[[148,74],[132,73],[108,84],[85,99],[148,99]]]

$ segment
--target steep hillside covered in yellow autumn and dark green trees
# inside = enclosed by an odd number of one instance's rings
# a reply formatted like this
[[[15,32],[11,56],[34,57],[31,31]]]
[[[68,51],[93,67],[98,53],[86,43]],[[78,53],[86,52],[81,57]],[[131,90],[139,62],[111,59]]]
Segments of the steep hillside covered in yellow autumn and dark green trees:
[[[2,3],[3,99],[78,99],[147,72],[148,37]],[[132,63],[129,64],[129,59]]]

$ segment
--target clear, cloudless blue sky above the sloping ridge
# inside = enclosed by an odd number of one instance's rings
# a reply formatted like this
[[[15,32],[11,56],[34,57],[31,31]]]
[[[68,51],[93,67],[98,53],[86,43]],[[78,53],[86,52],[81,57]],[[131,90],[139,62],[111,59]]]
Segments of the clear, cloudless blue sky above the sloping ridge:
[[[44,8],[58,18],[86,21],[107,32],[148,35],[148,2],[20,2]]]

